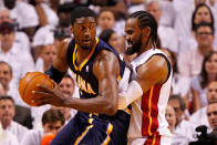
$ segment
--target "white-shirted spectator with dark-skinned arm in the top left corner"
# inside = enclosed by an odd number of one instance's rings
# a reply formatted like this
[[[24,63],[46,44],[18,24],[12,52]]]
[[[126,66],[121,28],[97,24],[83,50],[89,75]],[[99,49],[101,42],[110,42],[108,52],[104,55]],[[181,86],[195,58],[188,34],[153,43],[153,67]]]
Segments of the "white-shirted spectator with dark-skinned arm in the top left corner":
[[[14,23],[18,23],[19,29],[23,30],[30,41],[34,35],[39,24],[39,18],[34,7],[19,0],[3,0],[4,6],[10,10],[10,17]]]

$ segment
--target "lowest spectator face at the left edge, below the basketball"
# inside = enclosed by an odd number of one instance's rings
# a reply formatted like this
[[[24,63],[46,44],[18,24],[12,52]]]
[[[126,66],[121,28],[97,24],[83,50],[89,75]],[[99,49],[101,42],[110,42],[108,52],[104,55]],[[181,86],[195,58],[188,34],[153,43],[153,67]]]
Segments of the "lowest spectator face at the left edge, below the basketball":
[[[10,100],[0,101],[0,122],[10,122],[12,121],[16,114],[14,104]]]

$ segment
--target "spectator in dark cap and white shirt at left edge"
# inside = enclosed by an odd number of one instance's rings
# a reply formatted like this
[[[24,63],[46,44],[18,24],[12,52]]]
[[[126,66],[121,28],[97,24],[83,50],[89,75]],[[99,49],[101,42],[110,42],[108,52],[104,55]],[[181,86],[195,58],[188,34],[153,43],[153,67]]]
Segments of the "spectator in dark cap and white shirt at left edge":
[[[0,24],[0,61],[12,66],[12,84],[18,87],[19,80],[27,73],[34,71],[33,59],[30,53],[21,51],[21,44],[16,43],[14,28],[9,22]]]

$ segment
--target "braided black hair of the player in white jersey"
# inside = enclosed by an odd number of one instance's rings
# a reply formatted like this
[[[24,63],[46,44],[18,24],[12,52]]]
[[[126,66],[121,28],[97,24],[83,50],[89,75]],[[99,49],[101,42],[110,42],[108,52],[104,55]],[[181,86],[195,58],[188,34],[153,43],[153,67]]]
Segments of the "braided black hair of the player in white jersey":
[[[156,48],[157,42],[157,21],[156,19],[147,11],[136,11],[130,15],[130,18],[136,18],[140,21],[140,28],[151,28],[151,34],[147,39],[146,44],[149,42],[152,38],[153,46]]]

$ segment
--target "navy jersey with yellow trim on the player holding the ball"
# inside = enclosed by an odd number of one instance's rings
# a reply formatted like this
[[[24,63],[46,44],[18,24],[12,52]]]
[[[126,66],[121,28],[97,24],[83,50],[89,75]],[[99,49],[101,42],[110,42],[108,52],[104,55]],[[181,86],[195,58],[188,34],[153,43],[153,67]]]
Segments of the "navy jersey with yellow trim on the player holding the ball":
[[[96,38],[96,43],[90,53],[90,55],[78,66],[75,61],[76,44],[72,40],[69,44],[66,61],[68,65],[72,70],[73,79],[80,89],[81,99],[91,99],[99,95],[99,81],[93,74],[93,62],[96,55],[102,50],[108,50],[113,52],[118,59],[120,63],[120,76],[122,77],[125,69],[125,63],[122,61],[121,55],[104,41]]]

